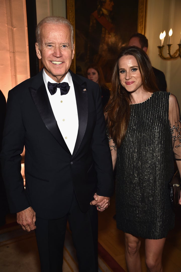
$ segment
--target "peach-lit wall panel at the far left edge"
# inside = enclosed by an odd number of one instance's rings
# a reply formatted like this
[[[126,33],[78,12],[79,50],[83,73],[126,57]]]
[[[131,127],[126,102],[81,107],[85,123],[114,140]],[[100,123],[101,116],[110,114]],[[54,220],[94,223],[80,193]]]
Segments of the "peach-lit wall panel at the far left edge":
[[[30,75],[25,1],[0,1],[0,35],[0,89],[7,99]]]

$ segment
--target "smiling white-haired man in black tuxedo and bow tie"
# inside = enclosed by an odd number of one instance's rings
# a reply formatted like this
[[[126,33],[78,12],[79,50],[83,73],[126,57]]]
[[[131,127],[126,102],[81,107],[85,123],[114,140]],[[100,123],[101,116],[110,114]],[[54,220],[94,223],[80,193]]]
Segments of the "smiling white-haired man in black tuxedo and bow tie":
[[[44,69],[8,94],[1,162],[10,210],[23,230],[35,230],[42,272],[62,271],[67,220],[79,271],[97,272],[97,210],[113,192],[99,85],[69,70],[68,20],[44,18],[36,37]]]

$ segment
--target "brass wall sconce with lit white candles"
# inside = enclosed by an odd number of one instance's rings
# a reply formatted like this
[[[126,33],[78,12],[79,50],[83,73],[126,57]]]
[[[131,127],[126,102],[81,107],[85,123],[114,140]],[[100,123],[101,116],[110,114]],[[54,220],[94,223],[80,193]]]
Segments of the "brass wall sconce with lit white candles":
[[[164,60],[171,60],[171,59],[177,59],[177,58],[181,58],[181,38],[180,38],[180,43],[178,44],[179,48],[173,53],[173,55],[171,55],[171,52],[170,52],[170,48],[171,48],[171,36],[172,36],[172,29],[170,29],[168,35],[169,35],[169,39],[168,39],[168,55],[169,57],[165,57],[164,54],[163,54],[163,48],[164,48],[164,45],[163,45],[163,42],[164,42],[164,38],[166,36],[166,32],[164,30],[164,32],[160,33],[160,45],[158,46],[158,50],[159,50],[159,56],[164,59]],[[180,33],[181,34],[181,33]]]

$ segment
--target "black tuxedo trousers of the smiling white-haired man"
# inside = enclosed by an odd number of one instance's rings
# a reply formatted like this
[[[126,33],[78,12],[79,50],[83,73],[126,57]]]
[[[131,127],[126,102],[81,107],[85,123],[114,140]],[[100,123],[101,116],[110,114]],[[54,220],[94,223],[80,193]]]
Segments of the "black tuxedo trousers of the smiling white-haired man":
[[[69,222],[73,245],[80,272],[98,271],[97,210],[81,212],[75,194],[70,211],[63,218],[43,220],[36,218],[36,240],[41,262],[41,272],[60,272],[63,265],[63,245]]]

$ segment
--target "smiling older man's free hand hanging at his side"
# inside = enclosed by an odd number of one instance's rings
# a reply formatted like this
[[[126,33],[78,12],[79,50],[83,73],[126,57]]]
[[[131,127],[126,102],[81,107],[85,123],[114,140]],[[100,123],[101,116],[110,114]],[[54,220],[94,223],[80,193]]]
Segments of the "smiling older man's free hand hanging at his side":
[[[31,231],[35,230],[35,221],[36,216],[35,212],[33,211],[32,207],[27,208],[24,211],[17,212],[17,223],[22,227],[23,230]]]

